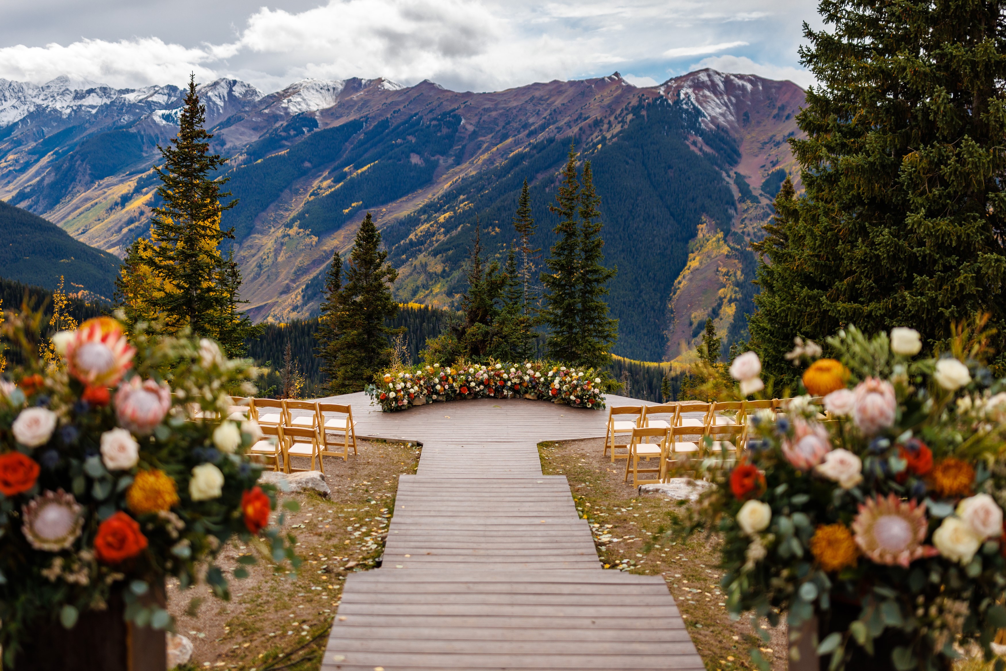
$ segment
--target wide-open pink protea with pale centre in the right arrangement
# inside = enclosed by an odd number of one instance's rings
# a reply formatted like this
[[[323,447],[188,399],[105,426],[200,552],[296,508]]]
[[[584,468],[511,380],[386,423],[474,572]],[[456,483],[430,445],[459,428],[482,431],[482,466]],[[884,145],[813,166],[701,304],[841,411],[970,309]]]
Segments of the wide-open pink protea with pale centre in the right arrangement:
[[[909,563],[937,554],[935,547],[923,545],[929,523],[926,504],[901,501],[895,495],[876,496],[859,504],[852,521],[856,544],[875,563]]]

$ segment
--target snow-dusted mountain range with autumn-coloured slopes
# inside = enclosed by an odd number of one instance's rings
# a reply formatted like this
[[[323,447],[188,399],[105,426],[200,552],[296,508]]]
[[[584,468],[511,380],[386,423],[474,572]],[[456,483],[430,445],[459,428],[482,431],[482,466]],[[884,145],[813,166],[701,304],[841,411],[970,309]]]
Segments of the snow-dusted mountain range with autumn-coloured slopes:
[[[351,246],[366,211],[399,270],[397,298],[453,305],[477,222],[488,253],[504,257],[525,178],[547,250],[572,142],[592,161],[606,260],[619,269],[615,352],[647,360],[680,356],[707,317],[727,342],[743,336],[747,242],[794,172],[786,140],[804,101],[790,81],[711,69],[652,88],[616,72],[480,94],[383,78],[269,95],[218,79],[198,93],[213,149],[229,159],[221,176],[238,203],[222,225],[257,321],[317,314],[332,251]],[[157,146],[183,97],[173,86],[0,79],[0,199],[122,257],[149,229]]]

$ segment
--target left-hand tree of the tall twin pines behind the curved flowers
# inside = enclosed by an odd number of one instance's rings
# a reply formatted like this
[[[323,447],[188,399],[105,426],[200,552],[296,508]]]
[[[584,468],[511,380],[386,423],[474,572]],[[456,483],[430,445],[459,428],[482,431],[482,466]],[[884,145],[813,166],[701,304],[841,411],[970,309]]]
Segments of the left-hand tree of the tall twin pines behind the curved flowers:
[[[569,154],[562,168],[561,182],[555,194],[555,203],[549,211],[558,215],[553,229],[556,240],[545,260],[548,273],[541,274],[545,289],[541,321],[548,327],[545,346],[548,355],[566,363],[579,361],[580,330],[579,297],[576,287],[579,274],[579,226],[576,215],[579,206],[579,181],[576,179],[576,151],[569,143]]]

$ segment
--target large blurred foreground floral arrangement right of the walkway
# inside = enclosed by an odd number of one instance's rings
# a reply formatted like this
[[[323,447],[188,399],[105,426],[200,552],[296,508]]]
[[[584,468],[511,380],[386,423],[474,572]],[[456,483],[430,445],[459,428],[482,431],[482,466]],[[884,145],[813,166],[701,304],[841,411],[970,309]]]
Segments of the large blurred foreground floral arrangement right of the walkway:
[[[756,628],[785,613],[791,659],[808,635],[821,668],[876,656],[870,668],[950,669],[962,646],[992,659],[1006,627],[1006,380],[983,342],[981,323],[938,358],[915,358],[905,328],[840,331],[834,358],[798,341],[807,395],[750,415],[734,463],[704,463],[717,486],[696,524],[723,536],[727,609]],[[734,378],[758,388],[743,356]]]

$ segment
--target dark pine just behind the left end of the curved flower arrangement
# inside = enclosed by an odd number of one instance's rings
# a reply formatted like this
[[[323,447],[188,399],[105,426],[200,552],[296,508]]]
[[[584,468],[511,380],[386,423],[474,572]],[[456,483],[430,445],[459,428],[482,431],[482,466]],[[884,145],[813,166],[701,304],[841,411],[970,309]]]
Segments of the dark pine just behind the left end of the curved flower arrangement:
[[[380,248],[380,232],[367,212],[349,254],[346,283],[339,298],[342,332],[329,382],[333,393],[362,390],[391,361],[388,337],[392,329],[384,325],[384,320],[394,318],[398,312],[398,304],[391,297],[391,285],[398,272],[385,264],[386,260],[387,250]]]

